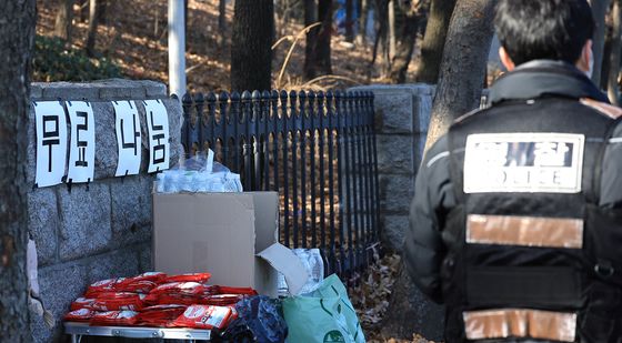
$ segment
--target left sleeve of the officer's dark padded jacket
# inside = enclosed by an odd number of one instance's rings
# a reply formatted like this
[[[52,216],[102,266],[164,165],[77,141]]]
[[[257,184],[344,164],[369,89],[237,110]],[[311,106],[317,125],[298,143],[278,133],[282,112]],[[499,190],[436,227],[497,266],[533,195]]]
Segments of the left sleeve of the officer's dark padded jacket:
[[[447,138],[424,157],[410,208],[403,259],[413,282],[437,303],[442,303],[440,268],[445,254],[441,239],[444,215],[455,205],[450,180]]]

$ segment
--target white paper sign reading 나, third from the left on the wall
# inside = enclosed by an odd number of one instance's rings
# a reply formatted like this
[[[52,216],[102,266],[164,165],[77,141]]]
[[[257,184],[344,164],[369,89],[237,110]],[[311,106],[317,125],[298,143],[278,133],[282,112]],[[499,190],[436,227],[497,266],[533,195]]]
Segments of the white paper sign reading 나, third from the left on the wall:
[[[132,101],[113,101],[119,160],[114,176],[136,175],[140,171],[141,134],[138,109]]]

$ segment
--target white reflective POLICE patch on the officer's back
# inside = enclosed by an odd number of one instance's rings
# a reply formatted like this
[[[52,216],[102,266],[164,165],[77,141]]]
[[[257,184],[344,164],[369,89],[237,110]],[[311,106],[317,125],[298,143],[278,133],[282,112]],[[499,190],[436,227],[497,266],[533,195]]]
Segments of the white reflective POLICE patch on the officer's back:
[[[464,193],[579,193],[584,141],[571,133],[471,134]]]

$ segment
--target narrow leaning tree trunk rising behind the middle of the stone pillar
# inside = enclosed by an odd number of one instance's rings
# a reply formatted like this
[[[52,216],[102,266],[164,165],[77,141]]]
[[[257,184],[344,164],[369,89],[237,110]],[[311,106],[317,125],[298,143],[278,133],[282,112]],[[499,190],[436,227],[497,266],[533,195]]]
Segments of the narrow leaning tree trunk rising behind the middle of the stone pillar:
[[[422,20],[421,12],[417,8],[402,9],[399,11],[400,20],[398,20],[398,46],[395,47],[395,56],[391,62],[391,82],[404,83],[407,80],[407,71],[414,50],[417,34],[419,33],[420,22]]]

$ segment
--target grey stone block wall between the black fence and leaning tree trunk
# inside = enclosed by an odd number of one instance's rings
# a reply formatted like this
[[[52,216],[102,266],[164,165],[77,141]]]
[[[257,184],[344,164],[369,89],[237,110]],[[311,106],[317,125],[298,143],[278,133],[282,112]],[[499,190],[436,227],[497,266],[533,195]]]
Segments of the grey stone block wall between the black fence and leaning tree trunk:
[[[382,243],[400,251],[408,228],[414,176],[422,160],[434,87],[373,84]]]

